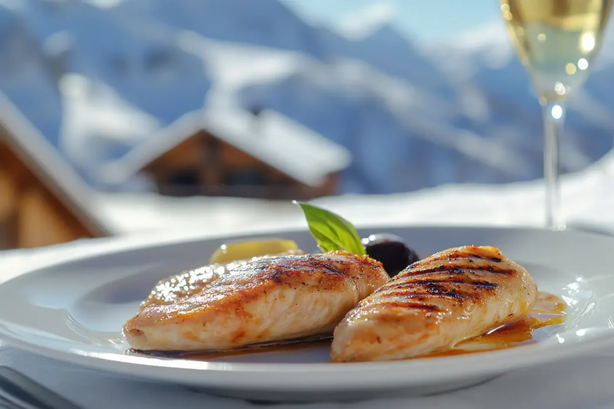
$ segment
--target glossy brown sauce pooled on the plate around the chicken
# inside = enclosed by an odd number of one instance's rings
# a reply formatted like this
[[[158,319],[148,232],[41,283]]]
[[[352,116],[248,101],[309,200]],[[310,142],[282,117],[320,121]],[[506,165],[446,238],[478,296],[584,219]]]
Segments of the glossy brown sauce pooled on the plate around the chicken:
[[[422,357],[441,357],[503,350],[527,343],[539,342],[542,337],[537,336],[538,330],[565,322],[565,307],[566,304],[561,297],[555,296],[554,294],[549,294],[548,292],[540,292],[538,294],[535,307],[526,318],[516,321],[515,323],[506,324],[504,326],[491,329],[491,331],[484,335],[480,335],[480,337],[465,340],[446,351],[441,351]],[[330,346],[331,340],[332,337],[330,335],[319,335],[315,337],[302,338],[300,340],[290,340],[287,342],[270,343],[266,345],[254,345],[249,348],[222,352],[128,350],[128,353],[207,361],[210,359],[219,359],[221,357],[240,356],[246,354],[297,351],[306,350],[308,348],[328,347]]]

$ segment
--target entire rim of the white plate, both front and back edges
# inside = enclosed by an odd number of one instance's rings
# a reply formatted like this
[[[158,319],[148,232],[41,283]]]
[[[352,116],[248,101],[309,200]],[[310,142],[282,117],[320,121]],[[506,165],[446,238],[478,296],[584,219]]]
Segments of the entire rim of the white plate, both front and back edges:
[[[577,230],[565,230],[565,231],[551,231],[550,229],[546,229],[543,227],[536,226],[491,226],[491,225],[445,225],[445,224],[393,224],[392,226],[388,226],[386,224],[367,224],[363,226],[361,224],[357,224],[357,229],[362,229],[365,227],[373,227],[373,226],[381,226],[387,228],[397,228],[397,229],[455,229],[455,230],[481,230],[481,231],[516,231],[516,232],[548,232],[549,234],[580,234],[580,235],[588,235],[591,237],[599,237],[599,240],[607,240],[611,241],[614,244],[614,238],[609,237],[607,235],[600,235],[593,232],[586,231],[577,231]],[[87,262],[88,259],[98,259],[105,258],[111,255],[117,254],[128,254],[134,251],[146,250],[146,249],[156,249],[163,247],[173,247],[173,246],[181,246],[186,245],[188,243],[198,243],[203,241],[211,241],[218,239],[235,239],[235,238],[249,238],[249,237],[257,237],[258,235],[270,235],[270,234],[283,234],[283,233],[299,233],[299,234],[308,234],[308,229],[305,228],[289,228],[289,229],[264,229],[263,231],[250,231],[248,234],[212,234],[212,235],[199,235],[198,237],[171,237],[170,239],[158,239],[152,240],[150,242],[135,242],[128,247],[118,247],[117,245],[121,245],[122,240],[110,240],[116,245],[112,245],[111,247],[103,247],[97,248],[94,251],[85,252],[83,254],[78,254],[76,256],[66,256],[55,259],[52,262],[47,264],[37,266],[31,269],[25,269],[23,272],[15,275],[15,277],[11,277],[6,281],[0,283],[0,287],[23,277],[28,274],[33,274],[37,272],[43,272],[47,269],[52,269],[55,267],[63,266],[66,264],[78,263],[78,262]],[[88,352],[85,350],[79,350],[72,348],[71,351],[63,350],[61,348],[53,348],[49,345],[44,345],[44,343],[34,343],[29,342],[27,340],[23,340],[20,337],[15,337],[11,335],[10,329],[6,329],[4,326],[4,319],[1,317],[0,313],[0,339],[6,340],[6,342],[15,346],[15,348],[20,348],[21,350],[26,350],[34,354],[38,354],[41,356],[46,356],[52,359],[59,359],[64,362],[71,362],[72,364],[77,364],[82,367],[89,367],[92,369],[100,369],[100,370],[111,370],[116,373],[124,373],[126,375],[134,373],[139,373],[140,376],[146,376],[147,378],[153,378],[157,380],[169,380],[169,375],[171,372],[174,374],[179,373],[180,371],[183,373],[182,378],[183,381],[189,381],[190,378],[195,378],[194,381],[197,384],[202,384],[203,381],[206,381],[208,385],[214,386],[216,388],[221,388],[223,386],[227,386],[228,380],[226,376],[223,376],[219,380],[216,381],[216,377],[219,377],[221,374],[232,374],[232,377],[236,377],[237,374],[241,375],[253,375],[255,373],[267,373],[267,375],[275,374],[279,376],[279,379],[283,379],[283,375],[297,375],[298,373],[307,373],[311,375],[317,374],[318,376],[322,375],[330,375],[334,376],[335,380],[339,380],[338,375],[341,373],[354,372],[359,370],[368,370],[370,372],[386,372],[390,370],[398,369],[406,369],[408,372],[412,372],[414,369],[416,371],[420,371],[423,369],[428,369],[426,373],[421,373],[420,377],[422,381],[427,382],[433,380],[441,380],[441,373],[437,374],[437,377],[429,377],[429,373],[432,375],[433,373],[441,372],[438,367],[442,367],[445,365],[446,367],[454,367],[456,370],[451,370],[448,372],[449,378],[456,378],[459,375],[481,375],[488,372],[508,372],[509,370],[517,369],[519,367],[529,367],[535,364],[540,364],[544,362],[550,361],[558,361],[559,359],[564,359],[565,357],[573,357],[577,354],[584,354],[589,351],[596,350],[600,348],[600,346],[605,345],[612,341],[614,338],[614,331],[612,334],[600,334],[595,335],[583,342],[580,343],[572,343],[572,344],[563,344],[557,346],[557,348],[544,348],[543,344],[535,343],[530,345],[522,345],[516,348],[508,348],[504,350],[497,351],[484,351],[479,354],[467,354],[467,355],[459,355],[459,356],[445,356],[445,357],[429,357],[429,358],[416,358],[416,359],[406,359],[400,361],[380,361],[380,362],[348,362],[343,364],[330,364],[330,363],[249,363],[249,362],[212,362],[212,361],[193,361],[189,359],[162,359],[156,357],[147,357],[147,356],[131,356],[120,353],[97,353],[97,352]],[[526,359],[515,360],[515,357],[526,356],[529,355],[532,357],[531,362],[527,362]],[[492,362],[499,362],[502,365],[500,369],[494,369]],[[147,369],[156,367],[158,370],[155,371],[147,371]],[[461,370],[458,370],[461,368]],[[449,369],[449,368],[448,368]],[[200,373],[200,376],[194,377],[195,372]],[[249,377],[252,381],[254,378]],[[171,376],[171,378],[173,378]],[[350,377],[351,378],[351,377]],[[411,378],[415,380],[416,377],[404,377]],[[405,382],[408,380],[405,380]],[[325,387],[326,384],[330,382],[330,378],[324,376],[321,381],[317,381],[319,383],[318,387]],[[400,380],[402,384],[403,380]],[[341,382],[343,383],[343,382]],[[257,386],[270,386],[270,380],[268,381],[260,381],[255,382],[254,387]],[[287,385],[287,384],[286,384]],[[241,389],[245,389],[243,385]],[[339,382],[335,383],[335,387],[339,386]],[[347,384],[346,386],[351,386]],[[284,387],[283,384],[280,387]]]

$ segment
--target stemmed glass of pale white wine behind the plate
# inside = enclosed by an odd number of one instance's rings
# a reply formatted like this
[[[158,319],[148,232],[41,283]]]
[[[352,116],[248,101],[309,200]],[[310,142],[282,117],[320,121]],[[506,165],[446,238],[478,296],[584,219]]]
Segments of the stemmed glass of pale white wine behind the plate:
[[[546,225],[563,229],[559,139],[565,107],[586,80],[613,0],[501,0],[501,12],[543,110]]]

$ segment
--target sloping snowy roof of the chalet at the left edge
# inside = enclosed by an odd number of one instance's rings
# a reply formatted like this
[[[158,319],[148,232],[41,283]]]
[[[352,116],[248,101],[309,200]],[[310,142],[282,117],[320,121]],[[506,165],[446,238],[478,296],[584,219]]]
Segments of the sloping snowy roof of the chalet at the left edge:
[[[0,127],[6,142],[91,232],[111,235],[91,207],[93,191],[55,147],[0,92]]]

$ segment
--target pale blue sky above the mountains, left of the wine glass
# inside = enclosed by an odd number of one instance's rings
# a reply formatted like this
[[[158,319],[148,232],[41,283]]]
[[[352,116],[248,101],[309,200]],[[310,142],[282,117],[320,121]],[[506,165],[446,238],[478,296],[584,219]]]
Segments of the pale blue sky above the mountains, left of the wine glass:
[[[311,21],[338,23],[352,17],[392,15],[395,25],[420,40],[441,40],[489,23],[498,0],[284,0]],[[368,13],[365,10],[371,10]],[[363,13],[365,12],[365,13]],[[354,20],[356,20],[354,18]]]

